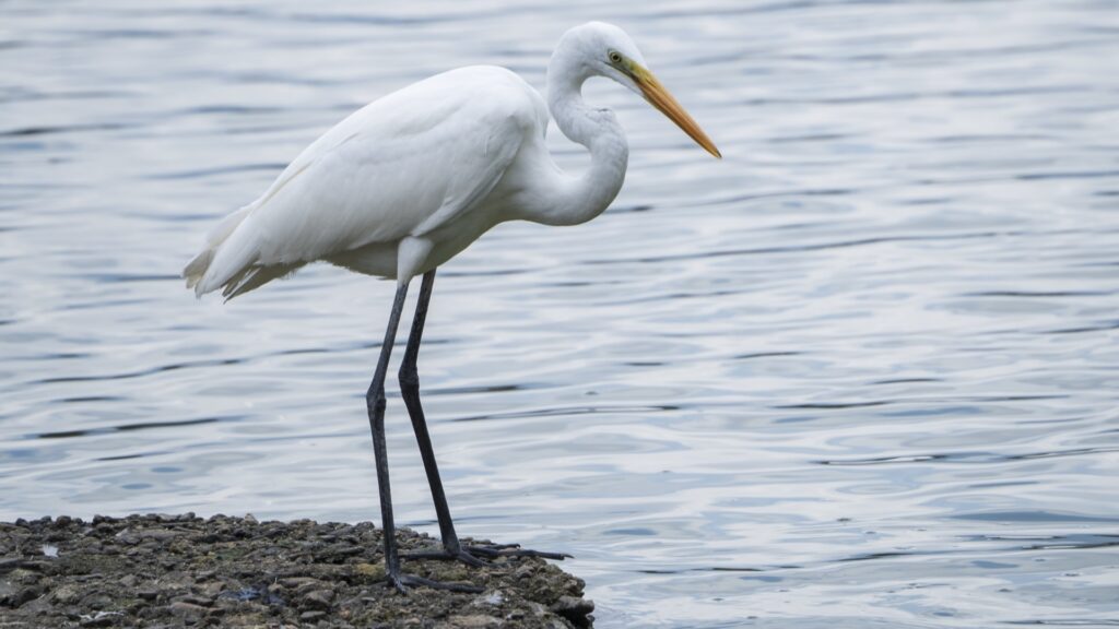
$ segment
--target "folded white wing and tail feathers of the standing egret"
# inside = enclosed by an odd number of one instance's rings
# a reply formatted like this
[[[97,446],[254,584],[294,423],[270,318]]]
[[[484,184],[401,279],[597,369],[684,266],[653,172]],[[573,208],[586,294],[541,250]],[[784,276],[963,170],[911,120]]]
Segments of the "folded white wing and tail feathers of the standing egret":
[[[232,284],[254,269],[272,272],[253,288],[449,225],[485,199],[546,116],[539,95],[498,67],[451,71],[375,101],[300,153],[242,217],[223,222],[187,266],[188,283],[194,276],[198,294],[223,284],[239,293]]]

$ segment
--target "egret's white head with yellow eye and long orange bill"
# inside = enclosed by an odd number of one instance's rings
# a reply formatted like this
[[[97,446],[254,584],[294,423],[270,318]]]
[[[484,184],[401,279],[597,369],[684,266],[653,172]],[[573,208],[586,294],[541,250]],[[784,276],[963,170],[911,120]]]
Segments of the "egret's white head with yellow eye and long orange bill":
[[[612,78],[629,87],[668,116],[708,153],[716,158],[723,157],[699,124],[646,67],[637,44],[633,44],[633,39],[624,30],[612,24],[587,22],[564,34],[561,47],[579,50],[587,75]]]

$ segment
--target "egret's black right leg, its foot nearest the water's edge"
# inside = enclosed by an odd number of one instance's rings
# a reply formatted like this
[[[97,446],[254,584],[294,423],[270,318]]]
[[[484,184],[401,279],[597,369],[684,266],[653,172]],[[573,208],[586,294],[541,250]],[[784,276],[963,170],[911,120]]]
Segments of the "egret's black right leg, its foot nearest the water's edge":
[[[404,360],[401,362],[401,396],[408,409],[408,416],[412,419],[412,429],[416,433],[416,442],[420,444],[420,456],[423,458],[423,467],[427,472],[427,484],[431,486],[431,497],[435,503],[435,514],[439,517],[439,532],[443,538],[443,552],[420,552],[410,553],[406,556],[413,558],[453,558],[470,565],[486,565],[486,562],[474,555],[497,557],[502,555],[540,556],[554,560],[562,560],[562,553],[540,553],[537,551],[526,551],[516,546],[489,545],[469,546],[463,548],[459,542],[459,536],[454,532],[454,522],[451,519],[451,509],[446,505],[446,494],[443,491],[443,481],[439,477],[439,464],[435,462],[435,450],[431,445],[431,435],[427,433],[427,422],[423,414],[423,405],[420,402],[420,372],[416,368],[416,360],[420,356],[420,344],[423,340],[423,327],[427,319],[427,304],[431,302],[432,289],[435,285],[435,270],[432,269],[423,275],[420,285],[420,299],[416,302],[415,317],[412,319],[412,331],[408,334],[408,344],[404,349]]]

